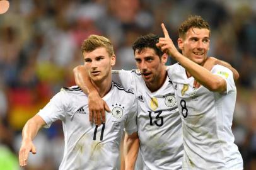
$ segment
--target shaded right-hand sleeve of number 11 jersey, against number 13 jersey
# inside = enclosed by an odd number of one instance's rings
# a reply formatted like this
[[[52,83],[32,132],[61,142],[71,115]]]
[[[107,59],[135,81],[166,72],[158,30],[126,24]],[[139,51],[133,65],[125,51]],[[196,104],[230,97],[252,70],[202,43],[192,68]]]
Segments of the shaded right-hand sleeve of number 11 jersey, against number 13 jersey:
[[[129,115],[125,120],[124,130],[129,135],[131,135],[134,132],[137,132],[137,100],[135,96],[134,96],[133,104],[129,111]]]

